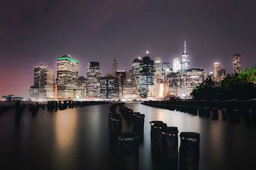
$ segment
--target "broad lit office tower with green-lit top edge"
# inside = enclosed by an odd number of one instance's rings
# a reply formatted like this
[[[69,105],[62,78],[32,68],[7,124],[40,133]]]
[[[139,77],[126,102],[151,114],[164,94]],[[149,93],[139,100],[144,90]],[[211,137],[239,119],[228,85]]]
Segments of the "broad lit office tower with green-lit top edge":
[[[77,89],[78,61],[70,55],[57,57],[57,98],[74,99]]]

